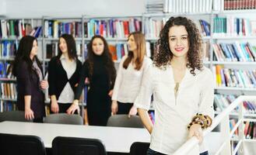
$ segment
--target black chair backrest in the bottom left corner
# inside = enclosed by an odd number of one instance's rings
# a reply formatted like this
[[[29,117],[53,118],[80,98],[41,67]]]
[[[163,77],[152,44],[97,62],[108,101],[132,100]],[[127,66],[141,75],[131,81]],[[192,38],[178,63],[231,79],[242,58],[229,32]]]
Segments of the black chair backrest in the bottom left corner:
[[[0,133],[0,153],[5,155],[46,155],[44,143],[38,136]]]

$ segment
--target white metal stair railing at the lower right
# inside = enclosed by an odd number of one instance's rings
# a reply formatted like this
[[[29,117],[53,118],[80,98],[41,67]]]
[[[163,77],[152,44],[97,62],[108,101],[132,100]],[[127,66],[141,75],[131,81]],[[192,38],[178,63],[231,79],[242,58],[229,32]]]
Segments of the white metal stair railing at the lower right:
[[[222,154],[222,155],[235,155],[244,154],[244,108],[243,102],[244,101],[256,101],[256,95],[254,96],[240,96],[234,102],[230,104],[223,112],[216,116],[216,118],[212,122],[212,126],[208,129],[203,131],[203,136],[205,137],[209,133],[212,132],[216,126],[220,124],[220,136],[222,137],[223,143],[220,145],[219,149],[216,150],[215,155]],[[232,131],[230,132],[230,113],[233,111],[234,108],[238,106],[238,121],[237,125],[233,127]],[[238,128],[238,143],[234,150],[231,150],[230,140],[233,133]],[[193,136],[191,139],[187,140],[178,150],[175,151],[174,155],[198,155],[199,154],[199,141]],[[238,152],[239,150],[239,152]]]

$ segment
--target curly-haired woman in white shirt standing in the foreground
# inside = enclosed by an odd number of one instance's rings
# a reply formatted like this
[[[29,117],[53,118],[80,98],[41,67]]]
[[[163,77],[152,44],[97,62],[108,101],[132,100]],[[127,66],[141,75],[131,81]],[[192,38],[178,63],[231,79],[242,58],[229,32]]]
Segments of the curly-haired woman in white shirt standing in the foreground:
[[[151,134],[148,154],[172,154],[191,136],[198,137],[200,154],[208,154],[202,129],[211,126],[214,116],[214,82],[212,72],[202,65],[200,33],[190,19],[171,17],[158,43],[159,51],[143,76],[135,101]],[[154,126],[147,112],[152,94]]]

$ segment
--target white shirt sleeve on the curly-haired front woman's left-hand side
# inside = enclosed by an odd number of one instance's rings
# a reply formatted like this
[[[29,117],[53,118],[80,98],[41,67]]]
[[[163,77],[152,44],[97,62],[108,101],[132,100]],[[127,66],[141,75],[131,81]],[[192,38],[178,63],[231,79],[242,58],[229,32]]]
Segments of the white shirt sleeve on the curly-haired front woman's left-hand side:
[[[151,95],[153,95],[153,66],[149,65],[143,72],[142,86],[139,90],[139,95],[135,99],[135,107],[149,110],[151,103]]]

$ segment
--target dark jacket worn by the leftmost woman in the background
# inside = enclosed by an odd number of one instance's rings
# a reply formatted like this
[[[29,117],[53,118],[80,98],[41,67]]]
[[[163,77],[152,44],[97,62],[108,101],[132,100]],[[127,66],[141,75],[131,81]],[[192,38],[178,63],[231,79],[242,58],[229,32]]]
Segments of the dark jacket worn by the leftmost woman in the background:
[[[17,107],[25,110],[25,95],[31,95],[30,108],[33,110],[35,118],[45,115],[44,92],[40,89],[40,81],[36,71],[29,71],[28,64],[22,60],[16,66],[17,77]]]

